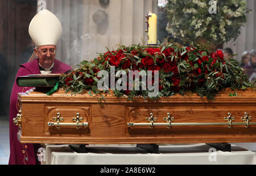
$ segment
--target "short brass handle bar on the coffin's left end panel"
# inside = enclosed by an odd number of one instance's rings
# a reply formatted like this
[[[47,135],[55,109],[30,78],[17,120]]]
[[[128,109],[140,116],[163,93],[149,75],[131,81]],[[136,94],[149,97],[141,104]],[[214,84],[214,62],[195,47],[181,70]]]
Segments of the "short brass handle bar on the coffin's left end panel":
[[[84,118],[80,118],[79,113],[76,114],[76,118],[72,119],[75,123],[62,123],[61,121],[64,121],[64,118],[60,117],[59,112],[57,113],[57,118],[52,119],[55,120],[55,122],[48,121],[47,124],[49,127],[55,126],[57,129],[60,127],[76,127],[77,129],[88,127],[88,122],[80,123]]]

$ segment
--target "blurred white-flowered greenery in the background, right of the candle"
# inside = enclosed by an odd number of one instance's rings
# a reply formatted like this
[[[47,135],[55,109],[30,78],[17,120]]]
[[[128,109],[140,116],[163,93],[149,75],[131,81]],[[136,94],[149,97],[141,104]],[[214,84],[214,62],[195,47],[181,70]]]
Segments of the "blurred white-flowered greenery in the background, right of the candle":
[[[250,12],[241,0],[169,0],[164,10],[166,30],[174,38],[196,41],[201,37],[216,45],[236,40]]]

